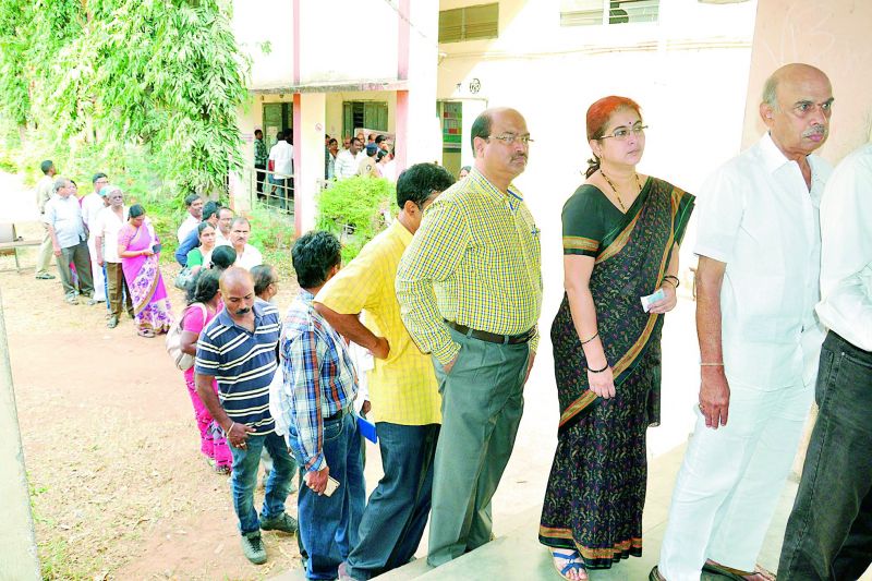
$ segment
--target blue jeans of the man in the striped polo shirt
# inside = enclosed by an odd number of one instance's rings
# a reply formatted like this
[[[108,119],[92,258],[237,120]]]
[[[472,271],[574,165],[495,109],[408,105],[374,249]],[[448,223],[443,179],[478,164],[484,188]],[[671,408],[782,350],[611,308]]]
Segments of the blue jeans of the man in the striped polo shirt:
[[[266,447],[272,456],[275,465],[266,481],[264,507],[261,518],[272,519],[284,512],[284,500],[291,489],[293,477],[293,458],[288,453],[284,438],[276,433],[266,436],[249,436],[245,448],[231,446],[233,455],[233,475],[230,477],[230,489],[233,495],[233,508],[239,518],[239,531],[243,535],[261,530],[261,521],[254,509],[254,488],[257,485],[257,468],[261,465],[261,449]]]

